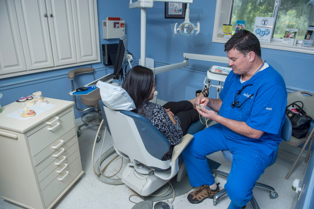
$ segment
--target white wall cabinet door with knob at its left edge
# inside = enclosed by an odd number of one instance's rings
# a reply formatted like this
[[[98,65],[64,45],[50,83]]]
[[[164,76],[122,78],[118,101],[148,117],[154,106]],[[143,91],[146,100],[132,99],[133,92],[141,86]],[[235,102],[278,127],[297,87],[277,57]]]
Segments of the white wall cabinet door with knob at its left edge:
[[[77,63],[71,0],[46,0],[54,65]]]

